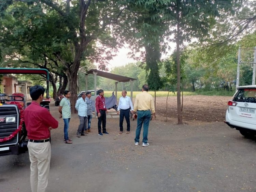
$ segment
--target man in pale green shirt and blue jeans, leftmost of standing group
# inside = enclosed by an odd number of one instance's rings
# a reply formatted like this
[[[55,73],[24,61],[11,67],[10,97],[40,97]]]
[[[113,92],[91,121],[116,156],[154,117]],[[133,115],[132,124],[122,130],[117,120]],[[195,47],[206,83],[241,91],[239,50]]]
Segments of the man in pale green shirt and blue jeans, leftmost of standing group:
[[[64,121],[64,140],[65,140],[65,143],[67,144],[72,144],[72,139],[70,139],[68,135],[69,121],[71,118],[71,106],[70,106],[70,100],[69,100],[70,97],[71,97],[71,93],[68,90],[64,91],[64,98],[61,99],[59,104],[59,112],[60,112],[59,118],[62,117]]]

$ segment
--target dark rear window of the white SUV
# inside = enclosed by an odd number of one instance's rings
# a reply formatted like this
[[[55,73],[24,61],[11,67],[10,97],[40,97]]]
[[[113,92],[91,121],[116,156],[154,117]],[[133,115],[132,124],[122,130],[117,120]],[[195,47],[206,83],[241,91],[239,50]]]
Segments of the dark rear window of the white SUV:
[[[234,101],[256,103],[256,89],[239,89]]]

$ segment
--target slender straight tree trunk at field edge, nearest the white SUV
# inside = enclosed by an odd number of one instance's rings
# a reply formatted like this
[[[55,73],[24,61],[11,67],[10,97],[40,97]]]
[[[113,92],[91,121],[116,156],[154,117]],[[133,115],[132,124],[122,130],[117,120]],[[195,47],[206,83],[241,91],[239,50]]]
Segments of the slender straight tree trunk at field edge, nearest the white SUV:
[[[177,117],[178,117],[178,124],[182,124],[182,111],[181,111],[181,63],[180,63],[180,12],[179,12],[179,6],[177,6],[177,12],[176,12],[176,18],[177,18],[177,36],[176,36],[176,48],[177,48],[177,54],[176,54],[176,60],[177,60]]]

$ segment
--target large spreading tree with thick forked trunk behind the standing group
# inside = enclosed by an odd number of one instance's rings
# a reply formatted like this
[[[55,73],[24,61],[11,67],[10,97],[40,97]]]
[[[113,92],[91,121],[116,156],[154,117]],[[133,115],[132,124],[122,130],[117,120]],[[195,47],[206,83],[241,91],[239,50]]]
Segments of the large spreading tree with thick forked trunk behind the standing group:
[[[1,44],[9,41],[18,57],[29,56],[33,64],[39,58],[47,65],[57,60],[55,67],[67,75],[68,88],[73,93],[72,112],[75,112],[81,61],[97,61],[100,69],[106,69],[105,64],[113,56],[112,50],[122,46],[110,35],[109,26],[114,25],[120,12],[116,2],[3,1],[0,8],[5,10],[2,15],[6,21],[1,26]],[[9,21],[14,21],[15,25]]]

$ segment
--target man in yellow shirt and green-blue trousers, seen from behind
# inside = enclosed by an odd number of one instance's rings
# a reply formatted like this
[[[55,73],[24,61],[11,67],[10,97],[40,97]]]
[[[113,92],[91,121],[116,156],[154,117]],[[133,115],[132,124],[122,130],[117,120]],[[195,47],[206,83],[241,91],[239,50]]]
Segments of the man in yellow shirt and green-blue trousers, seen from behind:
[[[134,113],[138,111],[137,118],[137,129],[135,136],[135,145],[138,146],[140,142],[140,131],[143,124],[143,139],[142,146],[149,146],[147,143],[148,125],[151,119],[151,114],[153,115],[152,120],[155,119],[155,105],[151,94],[148,93],[148,85],[142,86],[142,93],[136,95],[136,99],[133,107]],[[134,114],[135,115],[135,114]],[[133,117],[134,117],[133,115]]]

